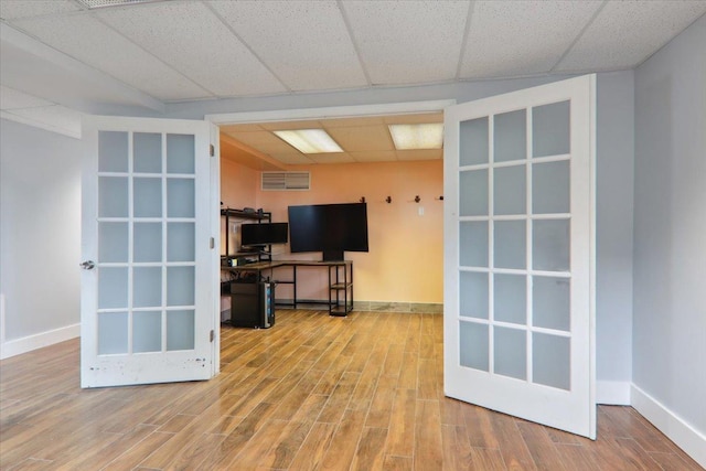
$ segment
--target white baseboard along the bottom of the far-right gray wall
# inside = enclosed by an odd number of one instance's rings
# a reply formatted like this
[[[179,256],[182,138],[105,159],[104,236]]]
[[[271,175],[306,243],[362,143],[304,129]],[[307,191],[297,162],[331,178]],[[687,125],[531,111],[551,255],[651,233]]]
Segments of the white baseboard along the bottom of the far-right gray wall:
[[[706,435],[696,430],[634,384],[631,387],[631,403],[632,407],[642,417],[650,420],[677,447],[684,450],[698,464],[706,468]]]

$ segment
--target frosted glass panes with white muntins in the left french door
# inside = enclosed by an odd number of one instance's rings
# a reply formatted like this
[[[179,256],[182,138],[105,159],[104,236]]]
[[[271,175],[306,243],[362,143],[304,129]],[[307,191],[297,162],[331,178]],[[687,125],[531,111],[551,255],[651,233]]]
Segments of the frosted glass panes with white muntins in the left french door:
[[[193,135],[99,131],[97,353],[193,350]]]

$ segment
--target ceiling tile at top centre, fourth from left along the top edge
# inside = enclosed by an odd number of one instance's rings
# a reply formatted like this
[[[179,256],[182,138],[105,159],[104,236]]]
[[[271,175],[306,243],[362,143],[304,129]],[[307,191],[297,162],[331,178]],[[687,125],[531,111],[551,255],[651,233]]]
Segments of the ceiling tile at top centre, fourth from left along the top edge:
[[[456,78],[469,1],[343,0],[373,85]]]

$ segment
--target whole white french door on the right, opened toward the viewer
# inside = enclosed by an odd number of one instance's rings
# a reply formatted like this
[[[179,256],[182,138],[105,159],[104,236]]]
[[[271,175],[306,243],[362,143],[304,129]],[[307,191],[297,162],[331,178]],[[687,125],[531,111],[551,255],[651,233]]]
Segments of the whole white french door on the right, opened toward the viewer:
[[[596,438],[595,76],[445,111],[445,392]]]

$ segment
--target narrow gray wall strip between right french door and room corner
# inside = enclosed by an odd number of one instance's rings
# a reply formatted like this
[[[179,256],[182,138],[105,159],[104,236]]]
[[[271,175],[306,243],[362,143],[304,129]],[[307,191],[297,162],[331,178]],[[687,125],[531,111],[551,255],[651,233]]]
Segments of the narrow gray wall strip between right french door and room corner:
[[[602,381],[629,382],[632,377],[634,77],[632,72],[598,77],[597,376]]]

